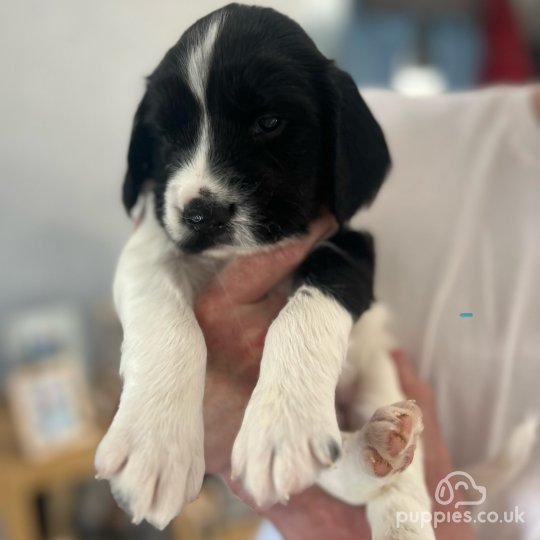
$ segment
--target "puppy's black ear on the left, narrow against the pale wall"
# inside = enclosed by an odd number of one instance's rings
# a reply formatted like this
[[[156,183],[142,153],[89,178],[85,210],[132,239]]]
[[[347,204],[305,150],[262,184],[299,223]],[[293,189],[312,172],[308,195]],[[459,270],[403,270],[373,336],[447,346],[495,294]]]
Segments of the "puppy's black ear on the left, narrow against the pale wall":
[[[128,170],[122,187],[122,202],[129,214],[154,167],[155,139],[148,119],[148,97],[144,95],[137,107],[128,150]]]

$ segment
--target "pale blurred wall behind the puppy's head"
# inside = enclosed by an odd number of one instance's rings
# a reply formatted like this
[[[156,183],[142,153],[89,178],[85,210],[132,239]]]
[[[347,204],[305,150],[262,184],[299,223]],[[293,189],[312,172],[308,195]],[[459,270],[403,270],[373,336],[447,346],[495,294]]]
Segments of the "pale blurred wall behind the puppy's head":
[[[0,3],[0,317],[109,294],[130,231],[120,186],[144,76],[224,3]],[[329,3],[266,2],[300,22]]]

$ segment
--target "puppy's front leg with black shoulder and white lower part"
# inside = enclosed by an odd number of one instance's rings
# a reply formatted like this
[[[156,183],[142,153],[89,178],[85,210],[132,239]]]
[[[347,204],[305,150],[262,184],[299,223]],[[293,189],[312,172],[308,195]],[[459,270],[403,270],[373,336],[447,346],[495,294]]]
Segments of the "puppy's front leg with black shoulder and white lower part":
[[[341,453],[335,389],[353,319],[372,300],[371,238],[338,233],[296,277],[296,292],[268,331],[233,448],[233,476],[259,505],[286,501]]]

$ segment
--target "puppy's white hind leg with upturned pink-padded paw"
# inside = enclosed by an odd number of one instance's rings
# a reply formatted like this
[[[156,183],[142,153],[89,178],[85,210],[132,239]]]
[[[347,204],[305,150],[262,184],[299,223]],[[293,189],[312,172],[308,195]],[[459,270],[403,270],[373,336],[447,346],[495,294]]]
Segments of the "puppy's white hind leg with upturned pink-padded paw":
[[[374,540],[433,540],[423,482],[418,407],[381,407],[359,431],[343,434],[343,457],[317,483],[349,504],[367,505]]]

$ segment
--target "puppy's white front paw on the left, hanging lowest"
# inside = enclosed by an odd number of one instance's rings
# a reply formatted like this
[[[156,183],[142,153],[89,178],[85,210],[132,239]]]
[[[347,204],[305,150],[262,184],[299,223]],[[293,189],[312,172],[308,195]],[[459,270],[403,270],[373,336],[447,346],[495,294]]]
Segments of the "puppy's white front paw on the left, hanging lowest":
[[[119,409],[95,459],[117,503],[133,518],[163,529],[194,500],[204,477],[202,417]]]

